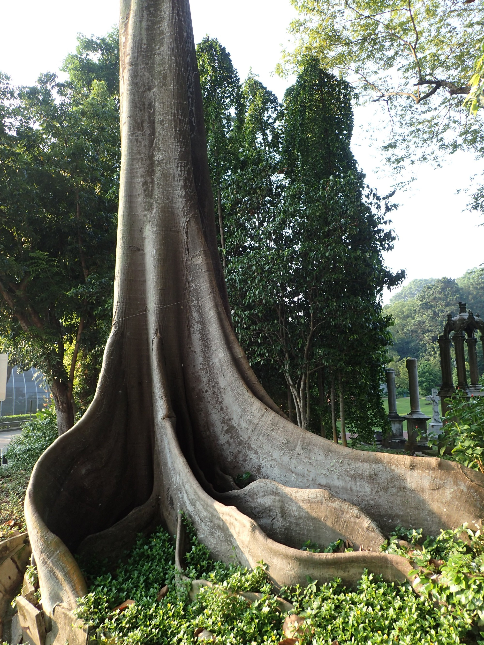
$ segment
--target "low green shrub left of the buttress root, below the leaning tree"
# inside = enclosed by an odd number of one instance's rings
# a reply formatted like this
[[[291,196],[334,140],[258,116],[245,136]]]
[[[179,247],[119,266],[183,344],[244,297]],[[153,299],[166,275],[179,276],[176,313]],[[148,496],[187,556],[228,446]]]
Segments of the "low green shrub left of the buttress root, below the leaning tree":
[[[6,451],[10,468],[32,471],[41,454],[57,438],[57,421],[53,410],[41,410],[27,421],[22,432],[14,437]]]

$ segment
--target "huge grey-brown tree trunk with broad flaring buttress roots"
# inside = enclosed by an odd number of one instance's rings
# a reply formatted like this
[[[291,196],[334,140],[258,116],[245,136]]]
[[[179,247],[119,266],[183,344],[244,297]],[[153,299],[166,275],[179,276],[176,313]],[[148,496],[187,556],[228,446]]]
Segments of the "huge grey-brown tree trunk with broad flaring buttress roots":
[[[216,558],[277,584],[403,580],[378,552],[397,524],[478,522],[484,477],[439,459],[358,452],[292,424],[230,323],[188,0],[121,0],[114,321],[92,405],[32,473],[26,518],[43,609],[86,586],[71,553],[117,555],[183,510]],[[237,475],[254,481],[239,490]],[[472,526],[474,526],[472,524]],[[349,538],[359,553],[310,553]]]

